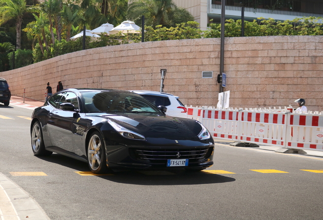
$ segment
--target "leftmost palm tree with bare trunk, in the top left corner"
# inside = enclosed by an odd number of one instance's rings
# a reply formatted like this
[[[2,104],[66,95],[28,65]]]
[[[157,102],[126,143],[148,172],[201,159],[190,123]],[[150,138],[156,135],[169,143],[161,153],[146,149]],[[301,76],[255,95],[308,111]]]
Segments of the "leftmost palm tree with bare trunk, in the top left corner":
[[[25,0],[0,0],[0,25],[14,19],[16,22],[16,48],[21,47],[21,23],[24,13],[33,12],[35,8],[28,8]]]

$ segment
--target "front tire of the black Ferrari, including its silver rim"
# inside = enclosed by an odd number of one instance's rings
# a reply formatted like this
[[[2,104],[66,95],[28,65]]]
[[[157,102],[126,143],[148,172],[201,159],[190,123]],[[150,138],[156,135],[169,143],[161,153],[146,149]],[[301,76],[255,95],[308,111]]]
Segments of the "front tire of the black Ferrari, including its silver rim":
[[[106,151],[101,134],[98,131],[91,133],[87,143],[87,163],[92,173],[107,172]]]

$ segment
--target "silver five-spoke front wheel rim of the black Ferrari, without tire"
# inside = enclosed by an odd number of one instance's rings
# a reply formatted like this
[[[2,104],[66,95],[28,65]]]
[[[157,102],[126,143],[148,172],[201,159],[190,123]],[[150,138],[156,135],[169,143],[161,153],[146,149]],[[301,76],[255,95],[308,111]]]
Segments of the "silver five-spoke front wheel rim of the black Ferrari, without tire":
[[[102,143],[100,137],[96,134],[91,136],[88,143],[87,158],[90,168],[95,171],[98,170],[102,159]]]

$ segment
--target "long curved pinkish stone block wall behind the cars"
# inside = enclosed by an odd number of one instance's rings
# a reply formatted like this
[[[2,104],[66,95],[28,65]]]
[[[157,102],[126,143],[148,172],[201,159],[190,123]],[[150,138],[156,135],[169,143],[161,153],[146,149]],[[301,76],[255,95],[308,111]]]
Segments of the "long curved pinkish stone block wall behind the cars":
[[[231,107],[296,107],[304,98],[309,111],[323,111],[323,36],[226,38],[224,55]],[[160,69],[167,69],[165,92],[184,104],[214,106],[219,56],[219,38],[133,43],[64,54],[0,77],[13,95],[26,88],[26,97],[44,100],[47,81],[56,88],[58,80],[64,88],[159,91]]]

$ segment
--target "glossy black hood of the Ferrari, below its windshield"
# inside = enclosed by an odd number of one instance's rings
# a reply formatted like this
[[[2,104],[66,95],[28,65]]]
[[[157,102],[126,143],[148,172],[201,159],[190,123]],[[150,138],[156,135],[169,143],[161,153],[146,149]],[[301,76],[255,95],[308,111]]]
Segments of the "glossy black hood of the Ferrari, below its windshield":
[[[149,114],[104,115],[124,128],[135,131],[145,137],[167,137],[170,140],[198,139],[201,125],[192,119],[157,116]]]

